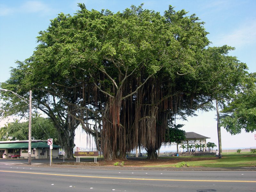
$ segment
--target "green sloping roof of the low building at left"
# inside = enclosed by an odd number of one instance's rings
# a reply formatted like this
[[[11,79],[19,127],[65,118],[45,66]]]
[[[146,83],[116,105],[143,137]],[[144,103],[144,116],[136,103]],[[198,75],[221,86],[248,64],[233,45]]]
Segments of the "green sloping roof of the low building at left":
[[[20,143],[0,143],[1,149],[22,149],[28,148],[28,142]],[[32,142],[31,148],[50,148],[50,145],[47,145],[45,142]],[[52,148],[61,148],[59,145],[53,145]]]

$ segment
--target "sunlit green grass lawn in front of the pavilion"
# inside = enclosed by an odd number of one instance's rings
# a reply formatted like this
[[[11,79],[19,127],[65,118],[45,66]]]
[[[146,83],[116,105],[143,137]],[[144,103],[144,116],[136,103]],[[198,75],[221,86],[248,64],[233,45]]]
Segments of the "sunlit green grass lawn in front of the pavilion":
[[[198,158],[198,157],[190,156],[190,158]],[[180,157],[180,159],[182,161],[182,157]],[[153,166],[147,166],[147,167],[179,167],[182,164],[187,164],[190,167],[193,167],[193,166],[194,167],[251,167],[251,166],[256,166],[256,154],[251,154],[251,153],[228,154],[228,155],[223,155],[221,159],[188,161],[188,162],[182,162],[177,164],[153,165]]]

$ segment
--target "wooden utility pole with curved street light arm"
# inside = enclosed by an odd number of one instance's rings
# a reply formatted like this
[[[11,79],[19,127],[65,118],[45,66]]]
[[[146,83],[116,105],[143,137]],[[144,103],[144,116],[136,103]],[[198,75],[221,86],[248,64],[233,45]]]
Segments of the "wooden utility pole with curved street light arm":
[[[29,119],[28,119],[28,165],[31,165],[31,117],[32,117],[32,91],[29,91],[29,100],[26,99],[25,97],[20,96],[19,94],[8,90],[8,89],[0,89],[0,91],[9,91],[12,92],[14,95],[19,97],[21,100],[24,100],[25,103],[26,101],[29,102]],[[27,103],[28,104],[28,103]]]

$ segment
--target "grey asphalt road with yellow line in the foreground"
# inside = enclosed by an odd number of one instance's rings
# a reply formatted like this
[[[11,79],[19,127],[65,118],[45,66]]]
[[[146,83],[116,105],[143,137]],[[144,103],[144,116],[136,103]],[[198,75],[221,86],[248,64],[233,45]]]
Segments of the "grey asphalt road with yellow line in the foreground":
[[[0,164],[0,191],[255,191],[255,171],[83,169]]]

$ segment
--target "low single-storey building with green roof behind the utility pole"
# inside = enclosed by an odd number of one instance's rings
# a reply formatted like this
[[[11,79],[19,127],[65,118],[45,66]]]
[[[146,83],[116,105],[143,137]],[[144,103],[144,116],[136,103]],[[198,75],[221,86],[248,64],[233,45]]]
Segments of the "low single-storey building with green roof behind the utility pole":
[[[53,145],[52,158],[59,157],[59,145]],[[28,140],[0,141],[0,158],[28,158]],[[31,158],[50,158],[50,146],[42,140],[31,141]]]

